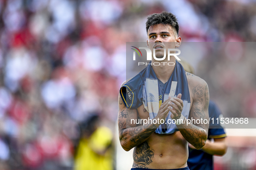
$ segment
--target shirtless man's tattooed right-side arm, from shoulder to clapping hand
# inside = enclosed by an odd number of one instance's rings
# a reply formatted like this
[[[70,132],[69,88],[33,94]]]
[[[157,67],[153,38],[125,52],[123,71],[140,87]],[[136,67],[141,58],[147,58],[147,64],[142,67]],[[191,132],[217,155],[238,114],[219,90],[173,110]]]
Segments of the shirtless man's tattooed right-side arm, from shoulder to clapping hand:
[[[192,84],[192,95],[193,97],[193,104],[190,110],[190,119],[193,118],[195,120],[209,120],[208,114],[208,106],[209,106],[209,90],[207,83],[196,77],[193,81],[194,85]],[[173,102],[174,104],[172,104]],[[171,102],[169,102],[169,106],[173,107],[169,110],[172,112],[171,118],[172,119],[179,119],[181,116],[181,111],[183,109],[183,101],[181,100],[181,95],[178,94],[177,98],[172,98]],[[194,122],[193,122],[194,123]],[[179,131],[183,135],[183,137],[191,143],[195,148],[201,149],[207,140],[208,134],[208,124],[198,123],[198,124],[188,124],[187,119],[184,119],[184,122],[180,125],[177,125]]]

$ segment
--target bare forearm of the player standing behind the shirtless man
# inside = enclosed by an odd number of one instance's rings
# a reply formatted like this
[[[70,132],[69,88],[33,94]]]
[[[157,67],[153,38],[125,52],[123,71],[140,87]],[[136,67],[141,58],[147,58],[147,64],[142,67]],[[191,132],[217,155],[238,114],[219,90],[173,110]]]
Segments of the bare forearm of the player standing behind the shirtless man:
[[[188,144],[188,146],[192,149],[195,149],[191,144]],[[227,152],[226,138],[216,138],[214,139],[214,142],[211,142],[209,139],[207,139],[206,144],[203,148],[201,148],[201,150],[207,154],[223,156]]]

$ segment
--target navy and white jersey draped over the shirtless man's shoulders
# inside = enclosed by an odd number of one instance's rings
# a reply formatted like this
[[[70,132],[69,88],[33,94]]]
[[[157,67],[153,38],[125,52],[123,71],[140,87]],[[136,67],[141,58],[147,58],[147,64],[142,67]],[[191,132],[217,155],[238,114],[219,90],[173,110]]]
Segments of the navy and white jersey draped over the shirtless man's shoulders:
[[[190,94],[188,88],[188,80],[185,70],[178,61],[176,61],[175,69],[172,72],[168,82],[163,84],[157,79],[152,66],[149,64],[145,69],[134,76],[130,81],[126,82],[120,88],[120,96],[126,108],[136,109],[142,104],[149,112],[149,118],[156,117],[160,105],[169,98],[181,93],[183,101],[182,115],[188,118],[190,110]],[[169,112],[165,123],[156,129],[159,134],[172,134],[178,131],[175,123],[172,123],[171,112]]]

